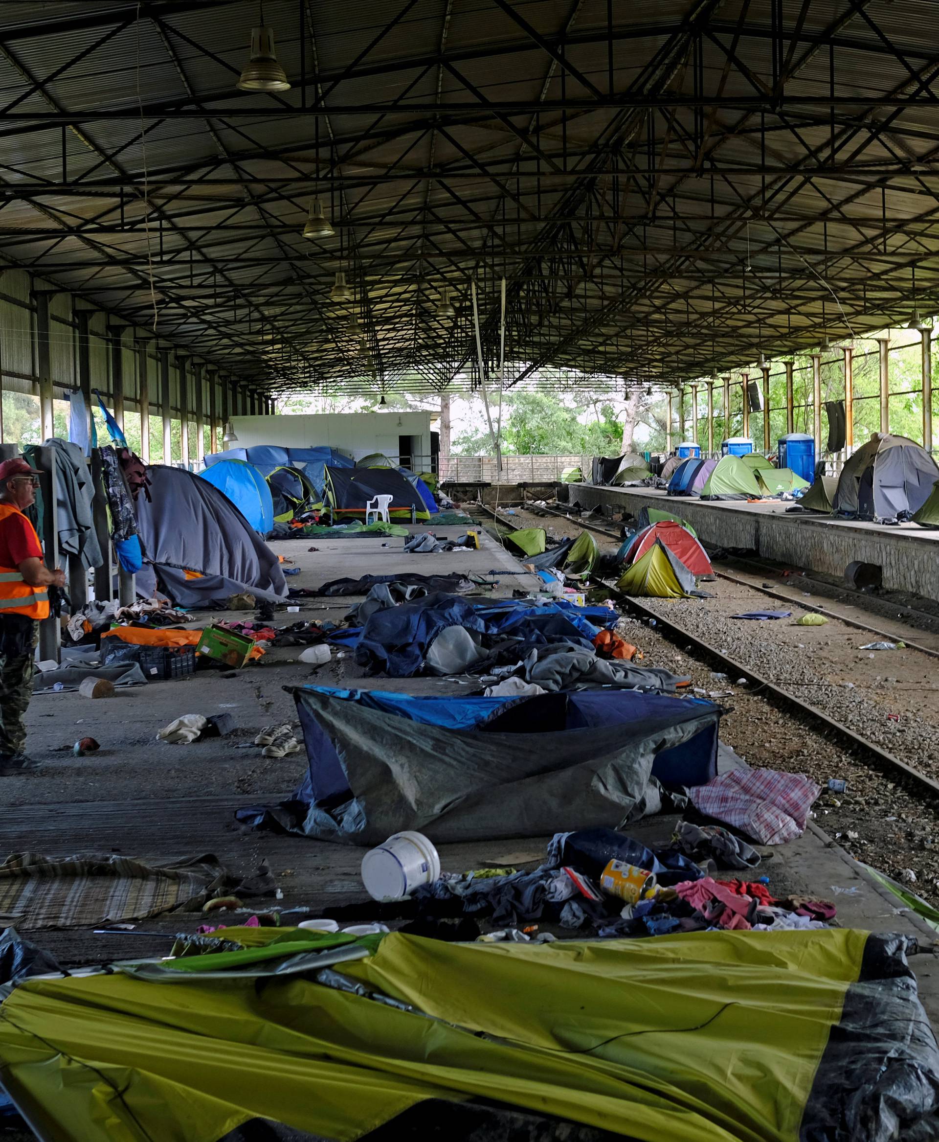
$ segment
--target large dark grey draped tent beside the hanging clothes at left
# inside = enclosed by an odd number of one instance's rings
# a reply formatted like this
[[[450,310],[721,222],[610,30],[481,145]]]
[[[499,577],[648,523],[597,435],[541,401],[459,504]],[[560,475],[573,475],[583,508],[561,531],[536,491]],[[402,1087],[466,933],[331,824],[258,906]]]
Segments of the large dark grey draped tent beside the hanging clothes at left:
[[[286,595],[277,556],[224,492],[184,468],[157,464],[147,475],[152,499],[136,502],[140,594],[159,585],[177,606],[218,608],[240,592],[269,602]]]

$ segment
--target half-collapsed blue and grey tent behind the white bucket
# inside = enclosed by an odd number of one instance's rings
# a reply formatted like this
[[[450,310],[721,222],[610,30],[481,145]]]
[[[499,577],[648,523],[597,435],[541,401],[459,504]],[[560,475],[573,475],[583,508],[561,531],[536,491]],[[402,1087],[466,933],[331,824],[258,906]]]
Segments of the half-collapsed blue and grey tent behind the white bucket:
[[[461,707],[321,687],[293,694],[307,773],[288,802],[241,810],[238,819],[322,841],[380,844],[407,829],[442,843],[615,828],[658,811],[653,765],[661,755],[670,755],[659,763],[670,774],[717,764],[720,710],[699,699],[593,691]]]

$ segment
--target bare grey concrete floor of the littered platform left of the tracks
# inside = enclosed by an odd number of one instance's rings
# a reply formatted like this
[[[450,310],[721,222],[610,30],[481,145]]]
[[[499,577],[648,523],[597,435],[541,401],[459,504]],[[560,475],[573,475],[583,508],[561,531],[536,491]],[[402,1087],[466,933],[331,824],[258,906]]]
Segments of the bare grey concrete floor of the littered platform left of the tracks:
[[[438,529],[438,533],[455,537],[461,530]],[[400,538],[288,540],[273,546],[301,569],[291,578],[292,586],[314,587],[341,576],[395,571],[469,571],[497,580],[493,589],[496,596],[534,586],[531,576],[505,573],[519,572],[520,564],[491,537],[483,533],[481,542],[478,552],[440,555],[405,554]],[[310,546],[317,550],[309,552]],[[299,614],[280,612],[277,624],[297,618],[339,621],[355,601],[355,596],[310,597],[301,601]],[[225,612],[225,617],[235,616]],[[212,616],[199,618],[204,622]],[[2,779],[6,804],[0,817],[0,852],[32,851],[50,856],[120,852],[151,862],[214,853],[236,872],[250,872],[266,858],[283,896],[252,902],[260,910],[275,903],[310,909],[365,903],[361,849],[242,829],[235,823],[235,809],[281,799],[296,786],[305,765],[302,753],[278,761],[262,758],[251,740],[260,726],[296,716],[284,687],[316,682],[444,694],[459,692],[461,679],[365,678],[351,656],[310,668],[297,661],[298,653],[292,648],[275,649],[235,677],[199,673],[105,701],[89,701],[75,693],[37,697],[27,715],[29,749],[43,766],[32,774]],[[232,713],[237,724],[228,738],[192,746],[155,741],[156,731],[180,714],[222,709]],[[86,734],[102,742],[99,754],[76,758],[71,751],[59,751]],[[665,844],[673,827],[674,818],[656,817],[639,822],[630,833],[650,844]],[[542,860],[548,839],[443,845],[442,864],[447,871],[478,868],[484,862],[534,867]],[[896,899],[815,828],[798,842],[762,852],[760,872],[770,877],[771,888],[779,895],[834,899],[842,923],[915,935],[924,951],[913,957],[913,967],[930,1018],[939,1023],[939,964],[931,955],[932,930],[900,909]],[[850,891],[836,893],[835,888]],[[164,954],[167,936],[159,933],[192,932],[199,923],[199,916],[177,914],[139,925],[145,933],[156,935],[107,936],[78,928],[30,935],[64,963],[78,965]]]

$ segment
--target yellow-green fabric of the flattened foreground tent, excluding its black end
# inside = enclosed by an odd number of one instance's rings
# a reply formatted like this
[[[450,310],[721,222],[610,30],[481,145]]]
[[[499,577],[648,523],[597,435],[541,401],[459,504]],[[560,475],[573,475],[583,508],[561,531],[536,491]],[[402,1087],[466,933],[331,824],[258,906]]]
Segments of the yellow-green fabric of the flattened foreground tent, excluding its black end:
[[[33,980],[0,1007],[2,1081],[57,1142],[213,1142],[256,1117],[353,1142],[473,1097],[643,1142],[796,1142],[865,939],[392,934],[340,965],[442,1022],[300,978]]]

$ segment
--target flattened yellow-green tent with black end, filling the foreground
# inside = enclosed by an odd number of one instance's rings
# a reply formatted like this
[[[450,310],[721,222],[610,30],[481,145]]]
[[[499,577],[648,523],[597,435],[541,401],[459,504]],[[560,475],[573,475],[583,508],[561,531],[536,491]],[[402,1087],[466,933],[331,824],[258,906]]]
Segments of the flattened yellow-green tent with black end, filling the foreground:
[[[3,1085],[43,1137],[105,1123],[175,1142],[925,1142],[939,1127],[939,1052],[901,936],[214,938],[242,950],[13,989]]]

